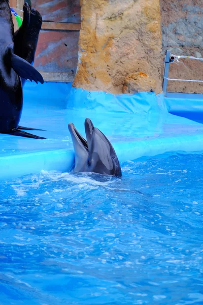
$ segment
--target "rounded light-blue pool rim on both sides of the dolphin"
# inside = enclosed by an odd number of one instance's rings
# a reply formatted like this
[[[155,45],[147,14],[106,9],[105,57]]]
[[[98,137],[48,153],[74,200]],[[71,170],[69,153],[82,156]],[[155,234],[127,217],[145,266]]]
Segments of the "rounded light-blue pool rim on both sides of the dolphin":
[[[119,161],[125,162],[172,151],[202,151],[203,135],[114,142],[113,146]],[[39,174],[42,170],[68,172],[73,164],[74,151],[72,149],[0,157],[0,180],[12,179],[26,174]]]

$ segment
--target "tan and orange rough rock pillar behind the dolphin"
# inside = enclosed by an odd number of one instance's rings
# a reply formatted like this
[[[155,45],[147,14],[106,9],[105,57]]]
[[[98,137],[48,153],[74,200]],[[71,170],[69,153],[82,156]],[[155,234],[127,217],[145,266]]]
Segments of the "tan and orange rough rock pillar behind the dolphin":
[[[159,0],[81,0],[81,16],[75,87],[161,92]]]

